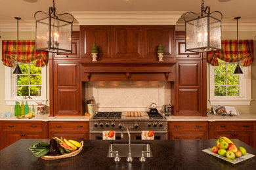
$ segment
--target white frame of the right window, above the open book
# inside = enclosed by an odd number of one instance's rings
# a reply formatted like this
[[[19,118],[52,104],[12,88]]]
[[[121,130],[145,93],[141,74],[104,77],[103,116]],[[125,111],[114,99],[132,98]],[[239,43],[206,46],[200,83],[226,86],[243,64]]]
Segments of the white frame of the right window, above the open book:
[[[214,65],[209,64],[209,101],[211,105],[250,105],[251,104],[251,65],[241,69],[239,75],[239,96],[215,96]]]

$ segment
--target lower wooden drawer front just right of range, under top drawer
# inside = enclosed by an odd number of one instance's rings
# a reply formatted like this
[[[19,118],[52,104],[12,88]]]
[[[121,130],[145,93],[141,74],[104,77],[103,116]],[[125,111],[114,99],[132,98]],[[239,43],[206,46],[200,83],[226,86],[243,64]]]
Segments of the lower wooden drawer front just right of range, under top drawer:
[[[197,132],[197,133],[193,133],[193,132],[189,132],[189,133],[169,133],[169,139],[172,140],[184,140],[184,139],[205,139],[206,135],[204,132]]]

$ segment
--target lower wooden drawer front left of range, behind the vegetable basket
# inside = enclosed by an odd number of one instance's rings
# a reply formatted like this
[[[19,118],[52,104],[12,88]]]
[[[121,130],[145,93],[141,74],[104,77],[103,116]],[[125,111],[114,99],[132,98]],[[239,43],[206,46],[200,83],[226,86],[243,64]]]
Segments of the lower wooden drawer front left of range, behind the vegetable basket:
[[[89,139],[89,132],[76,132],[76,131],[51,131],[50,138],[52,137],[63,137],[65,139],[73,140],[87,140]]]

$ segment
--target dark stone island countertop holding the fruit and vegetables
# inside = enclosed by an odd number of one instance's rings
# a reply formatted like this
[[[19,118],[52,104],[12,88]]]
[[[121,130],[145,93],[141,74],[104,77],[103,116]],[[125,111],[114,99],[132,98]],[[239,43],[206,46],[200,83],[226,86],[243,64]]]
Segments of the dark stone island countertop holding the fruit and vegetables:
[[[111,141],[85,141],[83,150],[77,156],[45,161],[28,150],[29,146],[39,141],[46,140],[22,139],[1,150],[0,169],[256,169],[256,157],[233,165],[202,152],[215,146],[216,140],[143,141],[150,143],[153,155],[144,163],[139,158],[134,158],[132,163],[127,163],[126,158],[114,162],[113,158],[107,157]],[[238,140],[232,141],[256,155],[255,148]]]

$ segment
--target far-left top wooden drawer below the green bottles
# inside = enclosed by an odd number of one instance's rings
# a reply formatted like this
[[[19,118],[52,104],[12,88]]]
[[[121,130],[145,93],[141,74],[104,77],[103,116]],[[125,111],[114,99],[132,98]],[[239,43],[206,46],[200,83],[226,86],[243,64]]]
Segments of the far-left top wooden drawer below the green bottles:
[[[42,129],[41,122],[3,122],[3,129]]]

